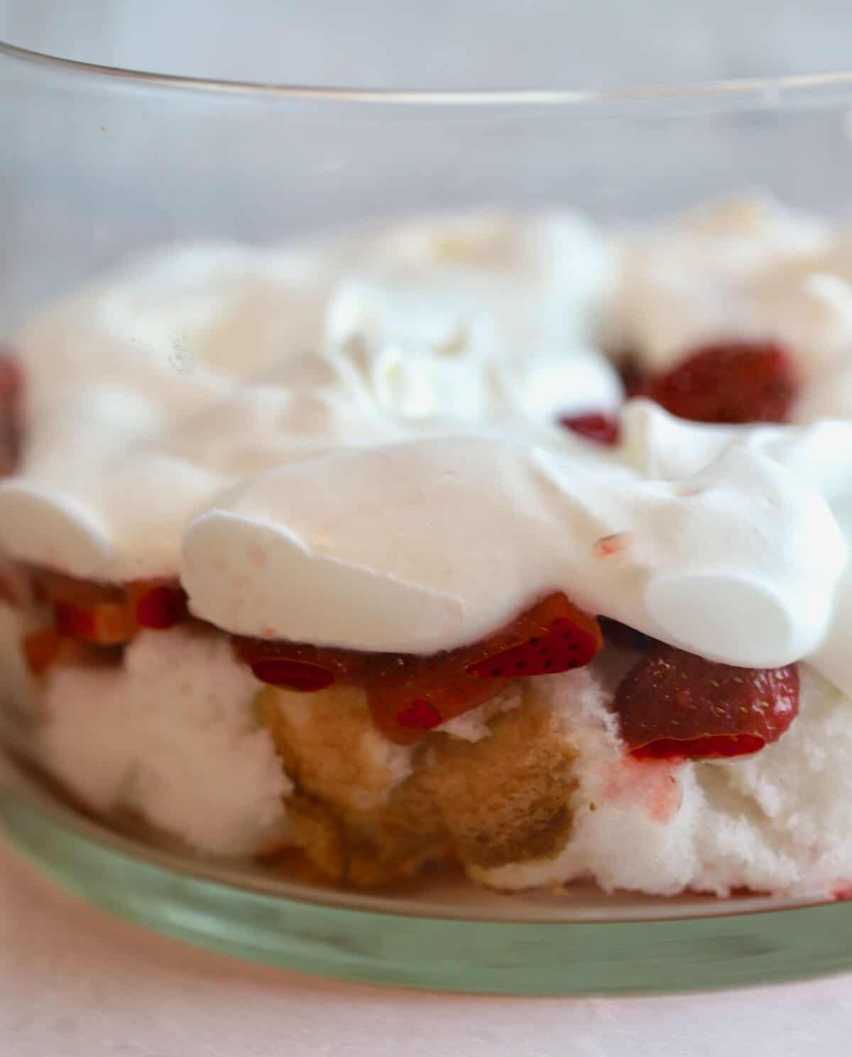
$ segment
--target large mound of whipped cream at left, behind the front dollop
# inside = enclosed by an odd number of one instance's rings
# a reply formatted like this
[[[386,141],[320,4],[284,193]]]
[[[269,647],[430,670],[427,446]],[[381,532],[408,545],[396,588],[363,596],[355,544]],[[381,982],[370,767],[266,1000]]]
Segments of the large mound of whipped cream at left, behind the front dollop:
[[[578,218],[503,214],[143,259],[20,336],[0,542],[81,577],[174,575],[187,522],[272,466],[459,430],[567,445],[557,413],[622,398],[588,345],[609,260]]]

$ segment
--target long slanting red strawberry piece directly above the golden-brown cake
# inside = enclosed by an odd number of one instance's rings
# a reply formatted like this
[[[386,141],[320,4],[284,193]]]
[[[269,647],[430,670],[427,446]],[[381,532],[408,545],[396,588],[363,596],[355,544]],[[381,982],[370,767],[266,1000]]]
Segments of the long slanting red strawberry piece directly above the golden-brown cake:
[[[422,731],[493,698],[507,680],[588,664],[603,643],[594,617],[561,593],[549,595],[473,646],[376,661],[367,686],[373,720],[392,741],[415,741]]]

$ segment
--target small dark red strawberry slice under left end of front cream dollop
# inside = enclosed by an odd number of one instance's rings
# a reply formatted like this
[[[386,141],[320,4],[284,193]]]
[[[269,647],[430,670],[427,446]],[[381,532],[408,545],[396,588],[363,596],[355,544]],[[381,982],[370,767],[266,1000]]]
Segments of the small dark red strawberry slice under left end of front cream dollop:
[[[252,668],[256,679],[302,693],[325,690],[338,679],[352,679],[367,664],[367,655],[353,650],[241,635],[235,635],[233,643],[237,656]]]

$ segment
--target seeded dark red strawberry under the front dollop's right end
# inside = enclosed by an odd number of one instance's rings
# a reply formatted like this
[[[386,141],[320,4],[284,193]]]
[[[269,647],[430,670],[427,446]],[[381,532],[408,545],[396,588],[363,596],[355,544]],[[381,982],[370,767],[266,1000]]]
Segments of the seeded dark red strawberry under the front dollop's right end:
[[[640,759],[756,753],[781,737],[798,706],[796,665],[737,668],[663,643],[622,680],[613,703]]]

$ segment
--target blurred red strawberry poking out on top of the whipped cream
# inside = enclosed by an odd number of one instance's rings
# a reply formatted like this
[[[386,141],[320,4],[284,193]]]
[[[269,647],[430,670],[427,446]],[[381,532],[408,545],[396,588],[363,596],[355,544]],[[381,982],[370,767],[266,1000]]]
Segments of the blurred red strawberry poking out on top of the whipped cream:
[[[647,395],[693,422],[785,422],[796,385],[782,346],[723,341],[692,350]]]

